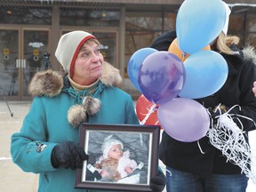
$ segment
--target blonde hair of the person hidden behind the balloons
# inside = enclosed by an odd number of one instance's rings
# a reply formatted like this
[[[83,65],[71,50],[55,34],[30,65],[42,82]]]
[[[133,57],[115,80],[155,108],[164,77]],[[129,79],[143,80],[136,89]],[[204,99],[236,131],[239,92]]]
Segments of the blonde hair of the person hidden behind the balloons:
[[[230,50],[231,44],[239,44],[240,38],[238,36],[225,36],[225,34],[221,31],[220,35],[217,38],[216,48],[220,52],[224,52],[226,54],[236,54],[236,52]]]

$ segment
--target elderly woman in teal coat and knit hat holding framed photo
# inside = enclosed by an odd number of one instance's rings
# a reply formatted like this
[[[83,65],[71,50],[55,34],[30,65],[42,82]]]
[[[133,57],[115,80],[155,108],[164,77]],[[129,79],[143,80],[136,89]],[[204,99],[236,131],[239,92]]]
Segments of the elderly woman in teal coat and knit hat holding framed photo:
[[[55,56],[67,74],[44,71],[32,79],[34,100],[12,135],[12,160],[24,172],[40,173],[38,191],[97,191],[75,188],[76,168],[88,159],[77,144],[79,124],[139,124],[132,97],[118,88],[119,71],[104,62],[95,36],[65,34]]]

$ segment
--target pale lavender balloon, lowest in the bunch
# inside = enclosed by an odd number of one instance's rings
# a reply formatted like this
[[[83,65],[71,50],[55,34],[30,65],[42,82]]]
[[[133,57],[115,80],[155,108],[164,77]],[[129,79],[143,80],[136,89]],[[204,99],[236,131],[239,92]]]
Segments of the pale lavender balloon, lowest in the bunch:
[[[173,139],[192,142],[203,138],[210,127],[207,110],[196,100],[175,98],[157,110],[164,132]]]

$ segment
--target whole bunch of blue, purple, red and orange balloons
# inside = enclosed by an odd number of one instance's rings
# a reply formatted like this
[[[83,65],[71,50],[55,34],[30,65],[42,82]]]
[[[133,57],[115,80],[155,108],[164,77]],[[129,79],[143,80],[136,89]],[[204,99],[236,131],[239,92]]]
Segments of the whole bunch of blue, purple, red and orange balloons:
[[[227,62],[210,47],[225,21],[222,0],[186,0],[177,15],[177,38],[168,51],[142,48],[132,54],[128,76],[142,93],[136,105],[140,121],[161,124],[164,132],[184,142],[206,135],[210,117],[192,99],[210,96],[226,82]]]

